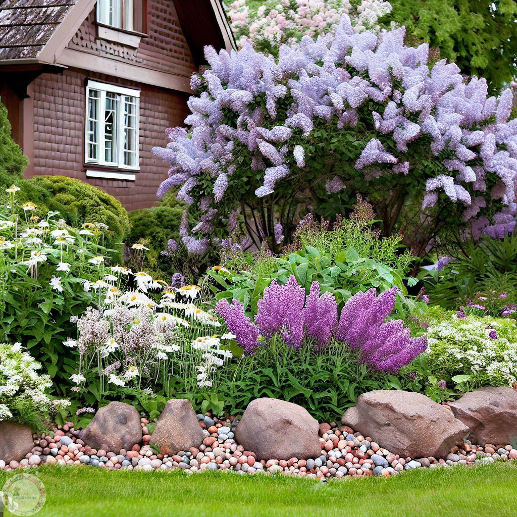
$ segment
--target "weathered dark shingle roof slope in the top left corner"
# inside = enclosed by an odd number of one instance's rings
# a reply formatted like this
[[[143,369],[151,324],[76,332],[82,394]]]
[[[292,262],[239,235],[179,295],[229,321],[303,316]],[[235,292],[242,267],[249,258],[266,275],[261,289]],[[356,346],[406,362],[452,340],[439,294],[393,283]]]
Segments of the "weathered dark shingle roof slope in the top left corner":
[[[0,0],[0,59],[36,58],[78,0]]]

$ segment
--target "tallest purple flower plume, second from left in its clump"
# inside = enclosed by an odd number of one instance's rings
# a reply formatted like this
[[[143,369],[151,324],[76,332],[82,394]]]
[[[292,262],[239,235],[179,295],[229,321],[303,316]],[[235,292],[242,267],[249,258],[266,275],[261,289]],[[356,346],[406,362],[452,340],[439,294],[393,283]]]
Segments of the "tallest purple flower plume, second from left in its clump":
[[[274,279],[257,303],[255,322],[258,330],[267,339],[280,332],[287,345],[298,348],[303,340],[304,303],[305,289],[298,284],[294,275],[285,285],[279,285]]]

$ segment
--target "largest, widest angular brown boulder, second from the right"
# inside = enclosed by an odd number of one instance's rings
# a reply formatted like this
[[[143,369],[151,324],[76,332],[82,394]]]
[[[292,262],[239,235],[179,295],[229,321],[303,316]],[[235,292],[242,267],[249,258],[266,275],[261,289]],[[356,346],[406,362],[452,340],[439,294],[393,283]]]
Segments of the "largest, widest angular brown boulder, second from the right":
[[[446,407],[420,393],[399,390],[363,393],[341,422],[403,458],[444,458],[468,432]]]

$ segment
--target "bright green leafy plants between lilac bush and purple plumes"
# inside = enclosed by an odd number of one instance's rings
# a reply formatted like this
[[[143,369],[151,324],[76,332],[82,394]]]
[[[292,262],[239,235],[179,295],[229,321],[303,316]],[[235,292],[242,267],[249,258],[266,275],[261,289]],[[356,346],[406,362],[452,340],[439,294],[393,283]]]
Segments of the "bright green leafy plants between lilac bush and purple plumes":
[[[255,313],[258,299],[273,279],[283,284],[294,275],[307,292],[313,281],[320,282],[322,292],[332,293],[339,305],[358,291],[371,287],[385,291],[397,286],[403,295],[399,299],[399,308],[402,308],[402,302],[409,303],[406,275],[415,258],[403,249],[400,237],[381,238],[373,221],[357,216],[359,210],[368,206],[359,199],[353,217],[338,218],[333,224],[325,220],[320,224],[312,217],[306,218],[295,233],[294,243],[286,248],[286,251],[297,251],[275,257],[237,250],[224,262],[226,272],[218,268],[208,271],[217,285],[212,285],[216,299],[236,299],[245,310]],[[372,215],[373,211],[367,212],[368,217]],[[228,269],[233,265],[246,269],[233,272]],[[409,284],[413,285],[413,280],[409,280]],[[408,316],[415,315],[417,307],[421,310],[424,306],[420,302],[406,312]]]

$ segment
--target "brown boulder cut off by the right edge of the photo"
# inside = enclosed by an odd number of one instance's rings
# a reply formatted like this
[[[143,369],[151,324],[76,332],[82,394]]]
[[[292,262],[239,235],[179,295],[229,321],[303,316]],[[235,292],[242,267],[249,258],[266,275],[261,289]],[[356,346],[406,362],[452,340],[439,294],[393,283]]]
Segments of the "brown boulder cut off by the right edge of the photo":
[[[481,388],[449,404],[477,445],[513,445],[517,439],[517,391],[507,386]]]

